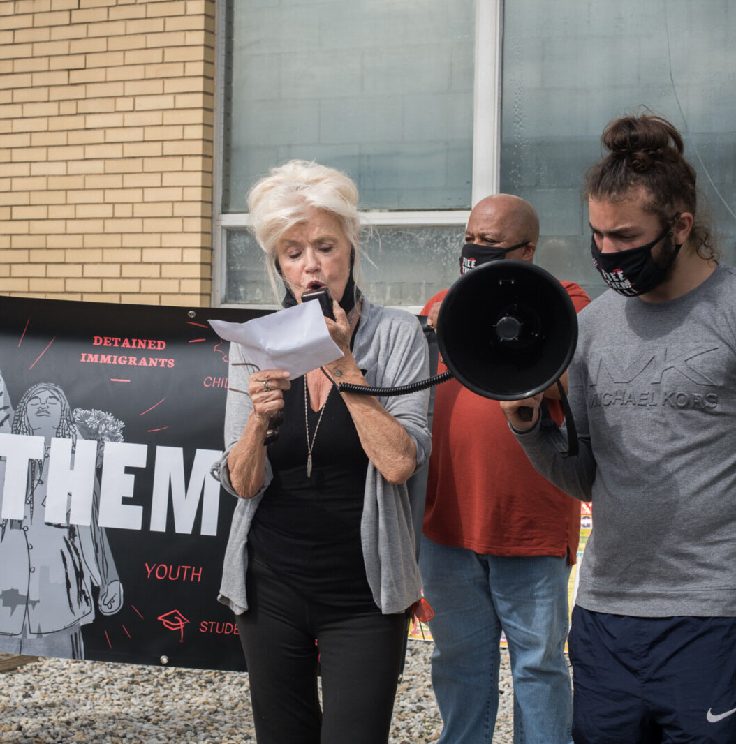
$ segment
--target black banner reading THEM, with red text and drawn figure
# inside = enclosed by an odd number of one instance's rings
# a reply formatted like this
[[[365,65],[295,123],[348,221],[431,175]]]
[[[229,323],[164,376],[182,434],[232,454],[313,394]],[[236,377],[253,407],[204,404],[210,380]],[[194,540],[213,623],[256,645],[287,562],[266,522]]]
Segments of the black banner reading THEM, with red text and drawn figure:
[[[0,652],[245,668],[208,320],[263,312],[0,298]]]

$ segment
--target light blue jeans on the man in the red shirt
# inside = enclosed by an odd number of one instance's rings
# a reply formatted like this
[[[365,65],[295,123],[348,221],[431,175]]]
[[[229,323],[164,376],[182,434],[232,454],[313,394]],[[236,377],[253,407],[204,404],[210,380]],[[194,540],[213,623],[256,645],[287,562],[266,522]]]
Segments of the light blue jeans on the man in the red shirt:
[[[571,744],[567,559],[482,555],[423,536],[419,563],[435,610],[432,686],[444,722],[438,744],[493,740],[502,630],[511,656],[514,744]]]

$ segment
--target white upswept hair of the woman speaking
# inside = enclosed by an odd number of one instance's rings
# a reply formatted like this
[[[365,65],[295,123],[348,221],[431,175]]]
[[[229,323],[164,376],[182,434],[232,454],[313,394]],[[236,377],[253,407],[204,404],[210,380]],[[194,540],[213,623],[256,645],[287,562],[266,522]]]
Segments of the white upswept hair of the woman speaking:
[[[281,236],[307,219],[309,208],[333,214],[355,251],[353,279],[360,283],[361,227],[358,189],[352,179],[336,168],[314,161],[289,160],[271,168],[248,193],[250,229],[266,254],[266,270],[276,297],[280,300],[281,281],[276,269],[276,245]]]

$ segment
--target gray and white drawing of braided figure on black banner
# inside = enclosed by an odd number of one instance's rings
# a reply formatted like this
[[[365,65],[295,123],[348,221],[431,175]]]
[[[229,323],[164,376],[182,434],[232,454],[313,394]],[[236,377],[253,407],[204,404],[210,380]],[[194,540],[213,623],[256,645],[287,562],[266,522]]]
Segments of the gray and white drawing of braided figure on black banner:
[[[100,440],[122,428],[100,411],[77,409],[77,417],[79,424],[64,391],[51,382],[28,388],[13,414],[12,434],[44,437],[45,444],[44,457],[28,462],[24,518],[0,522],[2,652],[84,658],[81,627],[95,618],[92,586],[99,589],[97,609],[103,615],[118,612],[123,604],[109,542],[97,525],[99,479],[95,477],[91,524],[70,525],[68,513],[64,522],[46,521],[52,437],[71,439],[74,457],[80,439],[98,434],[99,467]],[[1,485],[4,489],[4,479]]]

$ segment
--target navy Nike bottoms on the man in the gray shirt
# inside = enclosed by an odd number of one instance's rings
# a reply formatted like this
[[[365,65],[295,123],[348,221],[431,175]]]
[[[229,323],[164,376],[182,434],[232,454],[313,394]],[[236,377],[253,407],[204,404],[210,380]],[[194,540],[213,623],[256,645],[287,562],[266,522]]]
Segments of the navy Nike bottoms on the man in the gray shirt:
[[[575,606],[575,744],[735,744],[736,618],[637,618]]]

